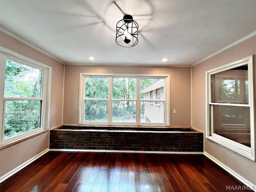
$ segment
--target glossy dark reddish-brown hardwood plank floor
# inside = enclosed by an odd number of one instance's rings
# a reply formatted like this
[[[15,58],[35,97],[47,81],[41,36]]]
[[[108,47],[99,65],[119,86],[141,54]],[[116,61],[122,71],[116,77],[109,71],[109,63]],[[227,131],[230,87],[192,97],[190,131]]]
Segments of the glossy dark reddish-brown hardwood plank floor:
[[[0,191],[224,192],[232,186],[244,184],[203,155],[48,152]]]

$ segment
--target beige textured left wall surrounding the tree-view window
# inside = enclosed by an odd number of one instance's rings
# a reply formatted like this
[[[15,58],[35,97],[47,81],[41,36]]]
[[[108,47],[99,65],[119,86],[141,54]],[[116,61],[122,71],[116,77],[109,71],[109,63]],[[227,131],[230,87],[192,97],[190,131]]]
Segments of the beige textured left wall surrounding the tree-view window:
[[[0,36],[0,45],[2,47],[52,67],[50,128],[61,125],[64,65],[3,32],[1,32]],[[40,154],[48,146],[49,134],[46,132],[0,150],[0,176],[8,173],[37,154]]]

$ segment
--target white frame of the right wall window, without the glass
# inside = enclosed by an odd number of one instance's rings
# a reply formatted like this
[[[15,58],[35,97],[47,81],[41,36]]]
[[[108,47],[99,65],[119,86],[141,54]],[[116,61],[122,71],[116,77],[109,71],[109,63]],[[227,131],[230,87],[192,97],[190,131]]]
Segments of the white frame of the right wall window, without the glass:
[[[211,76],[222,71],[226,71],[238,66],[248,64],[248,89],[249,98],[248,104],[228,104],[228,103],[217,103],[212,102],[212,80]],[[254,130],[254,76],[253,70],[255,65],[253,63],[253,56],[248,56],[241,60],[225,64],[223,66],[214,68],[212,70],[206,71],[206,138],[230,149],[242,156],[245,156],[253,161],[255,161],[255,130]],[[250,139],[251,147],[245,146],[223,136],[214,133],[213,130],[213,105],[231,105],[231,106],[245,106],[250,107]]]

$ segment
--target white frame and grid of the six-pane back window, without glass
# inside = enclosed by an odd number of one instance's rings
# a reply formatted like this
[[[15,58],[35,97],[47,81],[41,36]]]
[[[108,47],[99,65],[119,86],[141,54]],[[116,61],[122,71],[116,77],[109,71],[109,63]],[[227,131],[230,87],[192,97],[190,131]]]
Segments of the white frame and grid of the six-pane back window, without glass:
[[[112,114],[112,101],[119,100],[112,98],[112,78],[137,78],[137,97],[136,99],[130,99],[129,101],[136,102],[136,122],[112,122],[112,115],[108,115],[107,122],[85,122],[84,121],[84,100],[85,100],[85,77],[109,77],[109,98],[108,102],[108,114]],[[140,99],[140,78],[164,78],[164,100],[154,100],[154,102],[164,101],[164,123],[147,123],[140,121],[140,102],[152,102],[152,100]],[[89,99],[96,100],[96,99]],[[102,99],[100,99],[102,100]],[[94,73],[80,73],[80,85],[79,85],[79,112],[78,112],[78,124],[79,125],[104,125],[104,126],[170,126],[170,75],[169,74],[94,74]]]

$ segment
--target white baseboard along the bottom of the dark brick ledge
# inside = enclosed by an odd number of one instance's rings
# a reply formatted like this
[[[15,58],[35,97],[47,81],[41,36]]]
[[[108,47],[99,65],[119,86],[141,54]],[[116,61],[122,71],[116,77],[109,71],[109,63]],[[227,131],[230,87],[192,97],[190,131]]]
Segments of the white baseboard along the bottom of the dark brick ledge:
[[[204,154],[204,152],[180,152],[180,151],[131,151],[131,150],[94,150],[94,149],[49,149],[49,151],[62,152],[109,152],[109,153],[155,153],[155,154]]]

